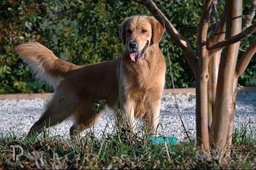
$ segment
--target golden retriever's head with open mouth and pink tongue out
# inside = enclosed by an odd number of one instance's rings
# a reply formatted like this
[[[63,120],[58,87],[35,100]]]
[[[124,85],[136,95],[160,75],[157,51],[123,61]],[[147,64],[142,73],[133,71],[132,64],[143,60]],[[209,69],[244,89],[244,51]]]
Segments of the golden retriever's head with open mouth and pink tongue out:
[[[152,16],[131,16],[119,28],[119,36],[133,61],[143,58],[152,44],[158,44],[164,28]]]

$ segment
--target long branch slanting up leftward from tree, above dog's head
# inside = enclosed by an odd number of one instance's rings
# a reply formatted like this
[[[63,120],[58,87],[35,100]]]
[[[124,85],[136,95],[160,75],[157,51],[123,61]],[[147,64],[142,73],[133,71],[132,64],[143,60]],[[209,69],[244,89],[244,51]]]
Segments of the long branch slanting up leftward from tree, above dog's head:
[[[176,43],[176,45],[182,49],[189,66],[195,74],[197,72],[197,58],[189,45],[189,41],[179,34],[176,28],[174,28],[172,23],[168,20],[168,18],[166,18],[162,11],[158,9],[152,0],[137,0],[137,2],[143,4],[151,12],[154,18],[156,18],[156,20],[158,20],[162,26],[164,26],[164,28],[166,28],[166,32],[170,35],[174,43]]]

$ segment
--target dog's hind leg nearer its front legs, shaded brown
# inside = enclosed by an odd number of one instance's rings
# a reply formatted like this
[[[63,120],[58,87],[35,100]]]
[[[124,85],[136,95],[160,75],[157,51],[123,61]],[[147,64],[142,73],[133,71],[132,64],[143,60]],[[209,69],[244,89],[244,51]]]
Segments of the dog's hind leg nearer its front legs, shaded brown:
[[[79,107],[75,113],[75,123],[71,126],[69,133],[72,136],[94,126],[104,110],[96,110],[94,104],[85,104]]]

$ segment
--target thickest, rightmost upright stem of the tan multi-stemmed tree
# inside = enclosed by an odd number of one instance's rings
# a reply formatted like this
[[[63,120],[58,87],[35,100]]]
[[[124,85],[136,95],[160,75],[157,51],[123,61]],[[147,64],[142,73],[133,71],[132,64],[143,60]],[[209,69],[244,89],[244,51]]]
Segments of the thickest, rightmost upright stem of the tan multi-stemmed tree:
[[[243,1],[226,0],[226,39],[241,32],[241,15]],[[216,103],[214,106],[214,123],[212,124],[214,148],[220,154],[226,152],[228,137],[228,127],[233,124],[234,104],[234,74],[238,59],[240,42],[229,45],[223,50],[220,60],[220,70],[218,75]],[[228,123],[228,127],[227,127]]]

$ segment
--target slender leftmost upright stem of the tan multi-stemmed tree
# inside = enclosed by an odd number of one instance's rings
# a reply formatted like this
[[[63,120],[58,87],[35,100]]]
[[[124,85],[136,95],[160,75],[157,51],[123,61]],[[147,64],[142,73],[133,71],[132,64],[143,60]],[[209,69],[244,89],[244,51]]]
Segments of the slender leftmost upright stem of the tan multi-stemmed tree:
[[[207,33],[208,33],[208,18],[212,9],[212,0],[206,0],[203,4],[201,19],[199,22],[199,31],[197,33],[197,43],[199,51],[198,68],[199,74],[196,81],[199,86],[197,91],[198,104],[196,106],[197,116],[197,144],[202,145],[203,148],[209,151],[209,138],[208,138],[208,64],[209,56],[207,51]]]

